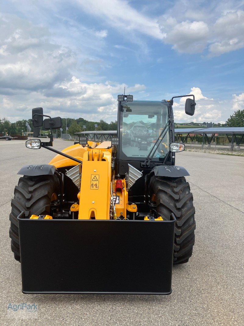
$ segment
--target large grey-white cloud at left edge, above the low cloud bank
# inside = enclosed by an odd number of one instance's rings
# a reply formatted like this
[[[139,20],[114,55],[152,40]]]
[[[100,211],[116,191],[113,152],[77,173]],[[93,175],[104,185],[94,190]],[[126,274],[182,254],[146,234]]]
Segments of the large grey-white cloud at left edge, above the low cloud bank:
[[[75,55],[52,43],[46,28],[11,15],[0,17],[0,27],[2,89],[45,89],[70,76]]]

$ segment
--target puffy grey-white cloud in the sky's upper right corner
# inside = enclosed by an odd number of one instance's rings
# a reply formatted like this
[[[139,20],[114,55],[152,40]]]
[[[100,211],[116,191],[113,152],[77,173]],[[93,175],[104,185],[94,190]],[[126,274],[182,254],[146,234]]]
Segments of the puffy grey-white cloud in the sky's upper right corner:
[[[178,14],[181,5],[181,15]],[[188,9],[187,9],[188,7]],[[210,56],[244,47],[244,11],[230,3],[232,9],[213,2],[211,11],[206,8],[189,10],[190,1],[177,2],[174,10],[158,19],[163,41],[172,44],[172,49],[182,53],[200,53],[205,49]],[[189,19],[190,18],[190,19]],[[198,19],[198,20],[197,20]]]

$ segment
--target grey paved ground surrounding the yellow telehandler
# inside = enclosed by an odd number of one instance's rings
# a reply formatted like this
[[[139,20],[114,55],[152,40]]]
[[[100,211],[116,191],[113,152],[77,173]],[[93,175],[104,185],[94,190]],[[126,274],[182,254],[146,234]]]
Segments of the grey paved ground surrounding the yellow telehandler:
[[[66,146],[55,141],[56,149]],[[176,164],[191,174],[197,229],[193,257],[173,267],[171,295],[26,295],[10,249],[10,201],[20,167],[52,157],[24,141],[0,142],[0,325],[243,325],[243,157],[177,154]],[[38,318],[8,319],[9,303],[38,304]]]

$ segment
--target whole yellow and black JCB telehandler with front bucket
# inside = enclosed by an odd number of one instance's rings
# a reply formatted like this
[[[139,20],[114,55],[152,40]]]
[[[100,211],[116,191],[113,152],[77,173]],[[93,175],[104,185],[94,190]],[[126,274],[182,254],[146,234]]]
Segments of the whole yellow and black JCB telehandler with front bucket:
[[[102,132],[85,132],[61,152],[52,148],[61,118],[32,110],[26,147],[57,155],[18,172],[9,234],[23,293],[171,293],[172,265],[191,257],[196,228],[189,173],[175,166],[184,150],[174,141],[175,97],[188,97],[194,114],[194,95],[118,95],[117,132],[102,142]],[[38,138],[41,126],[50,141]]]

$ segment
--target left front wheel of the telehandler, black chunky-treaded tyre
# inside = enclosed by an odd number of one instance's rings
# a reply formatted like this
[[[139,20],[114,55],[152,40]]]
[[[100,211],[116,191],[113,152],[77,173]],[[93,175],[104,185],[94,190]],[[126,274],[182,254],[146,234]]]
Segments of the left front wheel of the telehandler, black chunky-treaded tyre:
[[[11,213],[9,215],[11,249],[14,258],[20,261],[19,226],[17,216],[22,211],[25,218],[31,215],[50,215],[51,201],[57,200],[59,181],[56,175],[24,176],[14,189],[14,198],[11,200]]]

